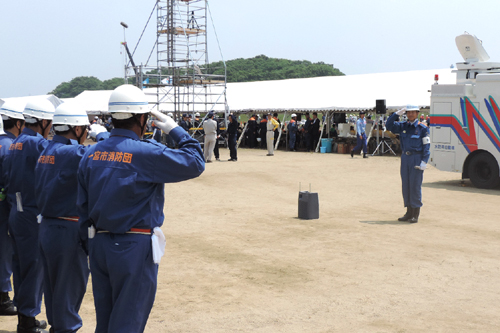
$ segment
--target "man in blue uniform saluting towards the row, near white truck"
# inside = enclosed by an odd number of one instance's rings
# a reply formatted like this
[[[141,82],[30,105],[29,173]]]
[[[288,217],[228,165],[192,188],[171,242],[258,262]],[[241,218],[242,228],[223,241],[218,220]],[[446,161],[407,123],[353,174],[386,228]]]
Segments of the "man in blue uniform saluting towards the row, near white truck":
[[[398,116],[406,112],[408,121],[397,122]],[[399,221],[418,222],[422,207],[422,181],[424,170],[430,157],[429,129],[418,121],[419,107],[408,105],[392,114],[386,122],[386,128],[392,133],[399,133],[401,141],[401,181],[406,214]]]

